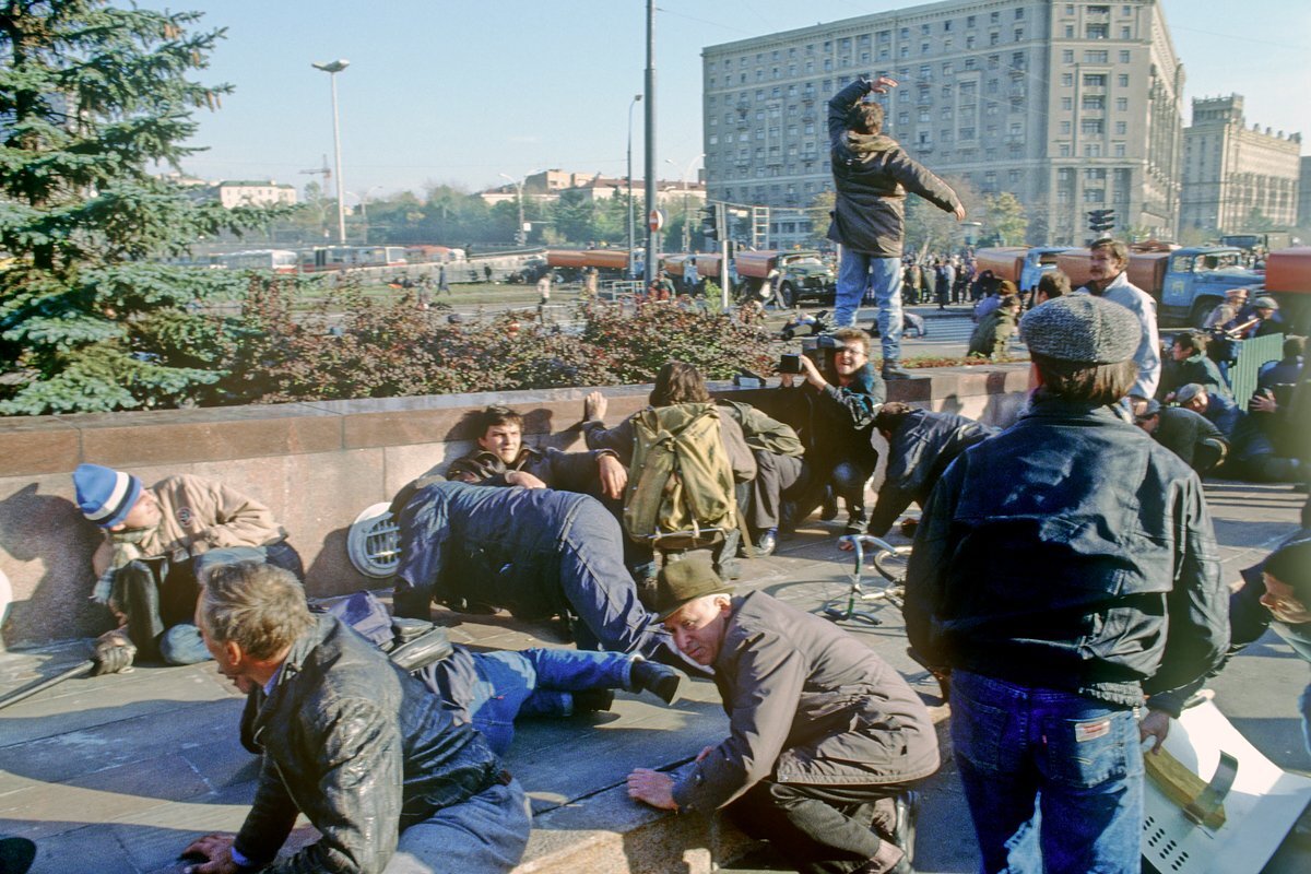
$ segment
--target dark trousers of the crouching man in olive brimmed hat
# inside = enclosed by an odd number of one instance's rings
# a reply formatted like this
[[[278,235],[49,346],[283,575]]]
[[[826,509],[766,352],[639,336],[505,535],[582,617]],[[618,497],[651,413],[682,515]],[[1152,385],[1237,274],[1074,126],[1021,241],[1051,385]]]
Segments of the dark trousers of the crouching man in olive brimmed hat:
[[[869,806],[905,786],[808,786],[762,780],[725,810],[742,831],[767,839],[798,871],[846,874],[881,844]]]

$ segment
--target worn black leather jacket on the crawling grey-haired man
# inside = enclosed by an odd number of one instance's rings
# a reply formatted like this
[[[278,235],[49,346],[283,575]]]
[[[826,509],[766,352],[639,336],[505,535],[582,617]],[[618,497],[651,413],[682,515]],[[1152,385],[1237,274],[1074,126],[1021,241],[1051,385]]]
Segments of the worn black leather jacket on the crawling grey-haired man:
[[[267,871],[382,871],[401,831],[503,780],[482,735],[332,616],[292,645],[252,729],[264,764],[237,852],[273,860],[298,811],[323,835]]]

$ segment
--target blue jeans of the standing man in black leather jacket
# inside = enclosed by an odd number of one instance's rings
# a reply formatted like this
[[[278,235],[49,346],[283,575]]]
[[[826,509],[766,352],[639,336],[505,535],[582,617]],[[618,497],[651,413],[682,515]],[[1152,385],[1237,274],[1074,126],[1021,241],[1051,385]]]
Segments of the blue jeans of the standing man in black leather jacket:
[[[1138,874],[1131,708],[956,671],[952,742],[983,871]]]

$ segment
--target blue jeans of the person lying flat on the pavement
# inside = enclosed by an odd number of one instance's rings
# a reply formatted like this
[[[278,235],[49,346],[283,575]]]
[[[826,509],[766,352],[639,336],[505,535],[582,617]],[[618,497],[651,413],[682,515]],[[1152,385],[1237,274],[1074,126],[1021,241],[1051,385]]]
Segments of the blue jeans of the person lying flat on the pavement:
[[[515,718],[566,717],[573,713],[572,692],[631,685],[632,658],[617,653],[536,649],[472,655],[479,679],[461,704],[498,756],[514,740]]]

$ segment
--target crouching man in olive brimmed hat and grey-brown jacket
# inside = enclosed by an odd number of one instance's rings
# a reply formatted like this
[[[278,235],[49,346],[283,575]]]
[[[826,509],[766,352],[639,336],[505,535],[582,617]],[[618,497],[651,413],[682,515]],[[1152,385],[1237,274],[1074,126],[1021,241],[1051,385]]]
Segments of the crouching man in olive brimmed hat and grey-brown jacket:
[[[683,654],[714,668],[729,736],[678,778],[636,769],[629,797],[722,807],[798,871],[909,871],[910,788],[937,770],[939,752],[906,680],[825,618],[733,595],[701,556],[661,571],[656,612]]]

